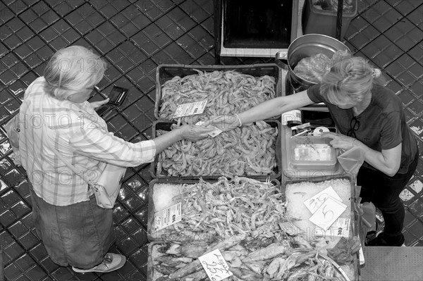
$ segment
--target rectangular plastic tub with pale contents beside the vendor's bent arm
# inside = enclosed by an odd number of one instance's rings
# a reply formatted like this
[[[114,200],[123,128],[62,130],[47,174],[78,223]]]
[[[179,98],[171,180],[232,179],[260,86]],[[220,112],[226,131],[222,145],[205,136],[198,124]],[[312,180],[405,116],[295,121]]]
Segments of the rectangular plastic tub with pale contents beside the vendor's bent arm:
[[[291,137],[289,140],[290,163],[293,168],[330,170],[336,166],[336,149],[331,139],[315,136]]]

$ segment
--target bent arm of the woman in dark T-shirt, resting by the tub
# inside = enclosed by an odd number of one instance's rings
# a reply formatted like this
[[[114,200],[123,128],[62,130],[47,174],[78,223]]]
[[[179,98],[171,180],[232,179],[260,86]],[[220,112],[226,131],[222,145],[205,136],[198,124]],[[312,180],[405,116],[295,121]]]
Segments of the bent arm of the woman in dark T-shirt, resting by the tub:
[[[372,165],[375,169],[392,177],[398,172],[401,163],[401,143],[391,149],[382,149],[381,152],[369,148],[353,137],[336,134],[333,132],[324,132],[321,137],[331,138],[330,144],[336,149],[351,149],[357,146],[364,152],[364,161]]]

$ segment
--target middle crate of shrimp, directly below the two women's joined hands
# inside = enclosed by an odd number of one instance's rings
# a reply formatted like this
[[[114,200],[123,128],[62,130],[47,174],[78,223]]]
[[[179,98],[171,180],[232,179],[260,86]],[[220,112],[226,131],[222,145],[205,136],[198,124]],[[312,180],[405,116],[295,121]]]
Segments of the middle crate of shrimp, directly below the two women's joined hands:
[[[281,176],[281,142],[278,120],[264,120],[221,132],[197,142],[182,140],[168,146],[150,166],[152,177],[216,180],[220,176],[244,176],[259,180]],[[178,127],[157,120],[153,136]]]

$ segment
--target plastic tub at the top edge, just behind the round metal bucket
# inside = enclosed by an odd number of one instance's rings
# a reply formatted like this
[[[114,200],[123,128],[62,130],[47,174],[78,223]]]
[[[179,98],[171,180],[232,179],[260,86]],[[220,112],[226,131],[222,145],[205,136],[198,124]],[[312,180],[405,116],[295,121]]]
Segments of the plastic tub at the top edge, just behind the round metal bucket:
[[[316,2],[325,1],[305,0],[305,4],[302,8],[302,33],[305,35],[317,33],[336,37],[337,8],[325,7],[327,10],[319,9],[317,6],[313,5],[313,3]],[[344,3],[345,2],[347,2],[347,0],[344,0]],[[341,41],[343,40],[345,32],[348,30],[350,21],[357,15],[357,0],[353,0],[351,5],[353,6],[352,11],[343,10]]]

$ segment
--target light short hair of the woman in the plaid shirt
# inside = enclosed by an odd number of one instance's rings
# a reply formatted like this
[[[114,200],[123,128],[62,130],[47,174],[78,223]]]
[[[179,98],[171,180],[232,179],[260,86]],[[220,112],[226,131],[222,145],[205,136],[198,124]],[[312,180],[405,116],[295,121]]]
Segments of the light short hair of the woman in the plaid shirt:
[[[66,99],[78,90],[94,87],[104,75],[106,62],[83,46],[56,51],[44,69],[46,92]]]

